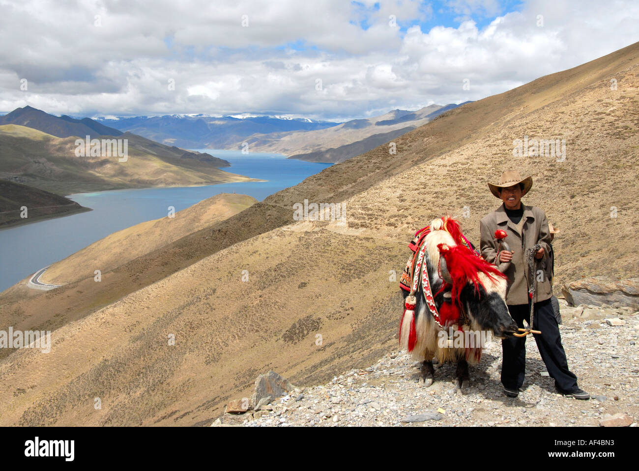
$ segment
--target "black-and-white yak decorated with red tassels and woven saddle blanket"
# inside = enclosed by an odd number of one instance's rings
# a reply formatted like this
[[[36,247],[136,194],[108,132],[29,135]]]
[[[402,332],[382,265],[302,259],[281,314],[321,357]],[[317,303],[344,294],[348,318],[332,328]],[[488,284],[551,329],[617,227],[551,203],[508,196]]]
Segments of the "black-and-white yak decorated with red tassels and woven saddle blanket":
[[[422,362],[420,383],[433,384],[437,358],[440,363],[457,362],[456,385],[464,389],[468,364],[479,363],[486,334],[504,338],[517,333],[505,303],[507,278],[502,271],[507,265],[498,269],[486,262],[458,221],[449,217],[417,231],[409,246],[414,254],[400,281],[404,313],[399,345]],[[502,247],[507,250],[505,243]]]

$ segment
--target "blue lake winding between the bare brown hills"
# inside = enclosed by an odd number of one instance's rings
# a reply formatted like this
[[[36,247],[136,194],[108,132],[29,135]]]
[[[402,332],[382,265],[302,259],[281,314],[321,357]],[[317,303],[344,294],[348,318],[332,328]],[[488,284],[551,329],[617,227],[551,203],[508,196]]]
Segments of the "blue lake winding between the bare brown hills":
[[[169,206],[177,212],[233,191],[261,201],[332,165],[289,160],[281,154],[196,150],[229,161],[231,167],[222,170],[266,181],[68,195],[93,211],[0,230],[0,292],[113,232],[166,216]]]

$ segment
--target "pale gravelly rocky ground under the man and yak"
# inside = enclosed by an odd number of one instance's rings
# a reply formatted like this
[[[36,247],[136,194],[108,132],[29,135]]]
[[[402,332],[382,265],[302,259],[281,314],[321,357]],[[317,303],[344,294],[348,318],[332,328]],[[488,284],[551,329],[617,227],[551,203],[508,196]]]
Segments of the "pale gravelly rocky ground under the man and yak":
[[[463,391],[452,383],[452,364],[436,364],[434,384],[420,386],[419,363],[396,351],[366,370],[346,371],[325,385],[295,388],[257,412],[227,413],[213,425],[636,426],[639,312],[627,307],[571,308],[563,299],[560,305],[569,366],[580,387],[592,395],[590,400],[557,393],[530,338],[526,380],[518,398],[502,392],[501,344],[492,341],[481,363],[471,367],[470,387]],[[610,415],[620,419],[611,421]]]

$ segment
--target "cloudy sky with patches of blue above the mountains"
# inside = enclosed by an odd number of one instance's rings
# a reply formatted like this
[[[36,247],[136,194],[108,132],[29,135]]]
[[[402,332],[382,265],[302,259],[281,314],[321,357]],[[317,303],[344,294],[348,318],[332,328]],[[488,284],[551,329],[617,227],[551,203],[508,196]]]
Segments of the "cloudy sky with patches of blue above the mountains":
[[[0,0],[0,114],[415,110],[604,56],[638,22],[636,0]]]

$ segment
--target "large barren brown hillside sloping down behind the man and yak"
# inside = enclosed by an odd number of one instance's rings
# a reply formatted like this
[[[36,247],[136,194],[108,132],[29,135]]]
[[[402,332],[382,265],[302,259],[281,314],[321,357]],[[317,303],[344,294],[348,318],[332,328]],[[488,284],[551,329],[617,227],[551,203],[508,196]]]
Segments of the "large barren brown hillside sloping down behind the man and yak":
[[[308,385],[368,366],[396,345],[412,232],[449,212],[477,243],[479,219],[499,204],[486,183],[504,168],[532,174],[524,202],[562,230],[556,285],[636,275],[638,128],[639,43],[450,110],[397,138],[396,155],[378,147],[155,251],[173,274],[153,278],[150,259],[128,265],[121,273],[145,287],[59,311],[49,354],[25,348],[0,363],[0,422],[210,424],[258,373]],[[565,160],[514,158],[525,136],[565,139]],[[344,202],[346,227],[293,221],[305,198]],[[36,303],[55,310],[96,284],[38,294],[29,308],[4,298],[1,325],[22,318],[26,329]]]

